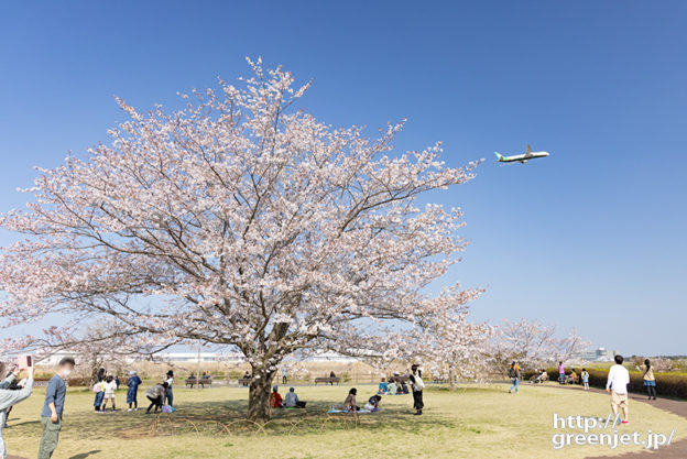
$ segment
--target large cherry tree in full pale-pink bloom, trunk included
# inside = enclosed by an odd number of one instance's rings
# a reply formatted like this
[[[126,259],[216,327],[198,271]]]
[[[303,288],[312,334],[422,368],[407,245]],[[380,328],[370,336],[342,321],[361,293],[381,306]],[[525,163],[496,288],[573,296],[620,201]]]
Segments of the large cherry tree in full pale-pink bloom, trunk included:
[[[309,84],[250,65],[174,112],[117,99],[130,120],[110,144],[39,170],[28,209],[0,219],[23,236],[0,258],[7,326],[64,315],[78,337],[108,318],[150,346],[233,346],[252,367],[248,416],[264,419],[285,356],[366,354],[477,294],[424,293],[466,242],[458,209],[417,204],[477,163],[445,166],[438,143],[394,151],[403,123],[331,128],[296,109]]]

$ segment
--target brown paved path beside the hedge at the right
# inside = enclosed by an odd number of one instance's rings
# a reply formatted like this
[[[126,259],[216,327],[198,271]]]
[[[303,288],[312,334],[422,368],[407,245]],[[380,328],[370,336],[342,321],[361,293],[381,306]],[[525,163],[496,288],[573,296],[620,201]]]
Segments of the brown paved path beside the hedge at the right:
[[[579,386],[570,386],[565,385],[560,386],[561,389],[569,390],[581,390]],[[606,394],[604,390],[589,387],[590,392],[597,392]],[[684,418],[687,418],[687,402],[672,398],[662,398],[652,400],[651,402],[647,398],[647,395],[630,393],[629,394],[630,402],[640,402],[640,403],[648,403],[650,405],[664,409],[666,412],[676,414]],[[610,402],[609,402],[610,403]],[[630,426],[632,426],[632,405],[630,405]],[[678,440],[673,442],[668,447],[663,447],[657,450],[643,450],[643,451],[634,451],[634,452],[625,452],[620,456],[593,456],[588,457],[587,459],[686,459],[687,458],[687,438],[683,440]]]

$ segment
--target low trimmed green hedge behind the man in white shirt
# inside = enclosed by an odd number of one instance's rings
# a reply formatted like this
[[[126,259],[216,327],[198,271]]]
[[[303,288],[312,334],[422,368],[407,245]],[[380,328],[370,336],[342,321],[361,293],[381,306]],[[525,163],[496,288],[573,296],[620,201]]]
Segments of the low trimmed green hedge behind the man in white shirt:
[[[558,369],[549,368],[546,370],[548,379],[550,381],[558,381]],[[567,371],[566,374],[570,374],[571,371]],[[582,372],[582,368],[575,368],[575,372],[578,376]],[[592,387],[606,389],[606,381],[608,380],[608,370],[595,370],[588,369],[589,385]],[[523,371],[523,381],[528,381],[534,375],[534,371]],[[581,376],[579,378],[581,382]],[[637,371],[630,372],[630,384],[628,391],[634,393],[645,393],[643,374]],[[673,396],[679,398],[687,398],[687,375],[684,373],[670,374],[670,373],[656,373],[656,392],[658,395]]]

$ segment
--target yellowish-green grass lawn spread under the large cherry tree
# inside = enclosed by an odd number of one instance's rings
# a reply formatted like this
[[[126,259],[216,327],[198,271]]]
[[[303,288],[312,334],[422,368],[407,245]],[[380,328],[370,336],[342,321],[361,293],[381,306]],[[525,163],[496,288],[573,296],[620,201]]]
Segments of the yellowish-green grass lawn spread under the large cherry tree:
[[[277,411],[265,426],[241,420],[248,390],[214,387],[203,391],[176,387],[178,411],[172,415],[145,415],[144,409],[111,414],[92,412],[92,394],[69,390],[64,428],[55,459],[85,458],[515,458],[621,453],[637,447],[571,446],[554,450],[553,414],[606,417],[609,398],[581,390],[524,384],[520,394],[506,385],[469,385],[450,392],[425,391],[425,415],[412,415],[412,396],[388,396],[383,411],[372,415],[327,415],[341,403],[349,386],[302,386],[307,413]],[[358,385],[358,398],[367,400],[375,387]],[[11,413],[4,430],[12,455],[35,458],[40,439],[43,390]],[[148,407],[146,398],[139,401]],[[284,393],[282,389],[282,394]],[[117,395],[124,407],[126,393]],[[362,403],[361,403],[362,404]],[[621,433],[647,429],[687,434],[687,420],[644,403],[630,406],[631,424]],[[565,433],[577,433],[565,430]]]

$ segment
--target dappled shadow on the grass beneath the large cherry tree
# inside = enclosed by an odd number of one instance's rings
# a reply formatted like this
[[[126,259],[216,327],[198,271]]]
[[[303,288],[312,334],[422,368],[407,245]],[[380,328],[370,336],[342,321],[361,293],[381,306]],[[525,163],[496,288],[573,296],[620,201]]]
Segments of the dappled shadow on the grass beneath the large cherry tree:
[[[433,389],[434,390],[434,389]],[[481,389],[470,387],[469,391]],[[272,419],[266,423],[253,423],[246,418],[246,400],[211,402],[187,402],[177,406],[172,414],[145,414],[145,406],[139,412],[108,412],[106,414],[84,411],[64,419],[63,436],[78,438],[88,433],[90,440],[150,438],[172,435],[222,435],[222,436],[297,436],[327,431],[366,429],[379,434],[405,433],[422,435],[435,429],[437,425],[446,428],[465,429],[460,419],[449,419],[432,411],[423,416],[413,416],[412,400],[407,405],[385,405],[382,400],[381,412],[374,414],[327,414],[331,406],[328,402],[308,402],[307,409],[282,408],[272,411]],[[97,428],[94,428],[97,425]],[[21,436],[40,437],[41,424],[29,420],[17,424]],[[96,452],[89,451],[74,456],[87,458]],[[87,456],[84,456],[87,455]]]

